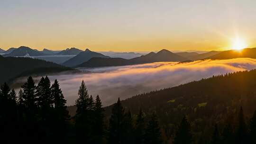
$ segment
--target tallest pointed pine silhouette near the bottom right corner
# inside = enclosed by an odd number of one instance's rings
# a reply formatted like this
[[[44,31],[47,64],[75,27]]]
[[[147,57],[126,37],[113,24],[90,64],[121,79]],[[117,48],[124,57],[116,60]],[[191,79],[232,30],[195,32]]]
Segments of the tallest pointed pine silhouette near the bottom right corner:
[[[240,108],[239,115],[238,115],[236,144],[247,144],[247,125],[244,119],[244,112],[242,107]]]

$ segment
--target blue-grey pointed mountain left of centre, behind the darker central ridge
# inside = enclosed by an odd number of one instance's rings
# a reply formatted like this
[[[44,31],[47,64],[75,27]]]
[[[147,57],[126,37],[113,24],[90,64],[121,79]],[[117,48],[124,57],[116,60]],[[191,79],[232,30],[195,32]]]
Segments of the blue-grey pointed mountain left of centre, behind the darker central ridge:
[[[81,52],[74,56],[73,58],[67,60],[66,62],[63,63],[64,66],[69,66],[69,67],[74,67],[77,66],[81,63],[87,62],[93,57],[101,57],[101,58],[110,58],[109,56],[92,52],[89,49],[86,49],[84,52]]]

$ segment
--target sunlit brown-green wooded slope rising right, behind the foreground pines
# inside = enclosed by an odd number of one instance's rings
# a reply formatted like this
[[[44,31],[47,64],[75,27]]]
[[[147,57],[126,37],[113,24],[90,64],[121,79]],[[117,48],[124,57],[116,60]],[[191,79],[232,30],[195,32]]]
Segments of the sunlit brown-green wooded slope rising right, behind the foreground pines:
[[[188,116],[192,132],[197,143],[205,144],[218,123],[222,131],[226,124],[236,126],[240,106],[243,107],[245,123],[256,109],[256,70],[235,72],[213,76],[201,81],[193,81],[177,87],[152,91],[122,100],[122,105],[138,113],[155,112],[163,126],[165,135],[173,138],[177,125],[183,116]],[[112,106],[106,107],[106,116],[110,116]],[[232,133],[236,127],[232,127]]]

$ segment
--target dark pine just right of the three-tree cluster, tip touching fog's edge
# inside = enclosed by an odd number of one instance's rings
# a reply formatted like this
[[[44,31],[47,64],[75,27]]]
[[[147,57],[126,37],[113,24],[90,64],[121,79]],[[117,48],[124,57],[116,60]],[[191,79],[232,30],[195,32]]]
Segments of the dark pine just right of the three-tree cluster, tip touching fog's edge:
[[[110,144],[124,144],[125,137],[124,129],[124,108],[118,98],[117,103],[112,108],[109,126],[109,143]]]

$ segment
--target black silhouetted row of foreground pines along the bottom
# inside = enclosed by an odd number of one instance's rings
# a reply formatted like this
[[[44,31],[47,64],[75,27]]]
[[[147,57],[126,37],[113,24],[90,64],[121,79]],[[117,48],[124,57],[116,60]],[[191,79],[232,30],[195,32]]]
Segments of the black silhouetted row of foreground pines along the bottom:
[[[57,80],[42,77],[21,86],[18,94],[7,83],[0,87],[0,142],[37,144],[256,144],[256,112],[249,124],[242,107],[235,125],[215,121],[207,141],[195,136],[189,117],[183,116],[172,141],[165,140],[163,126],[155,112],[132,114],[120,99],[105,116],[101,99],[89,96],[82,81],[78,90],[76,115],[70,117]],[[173,116],[175,117],[175,115]],[[224,127],[224,128],[220,128]]]

